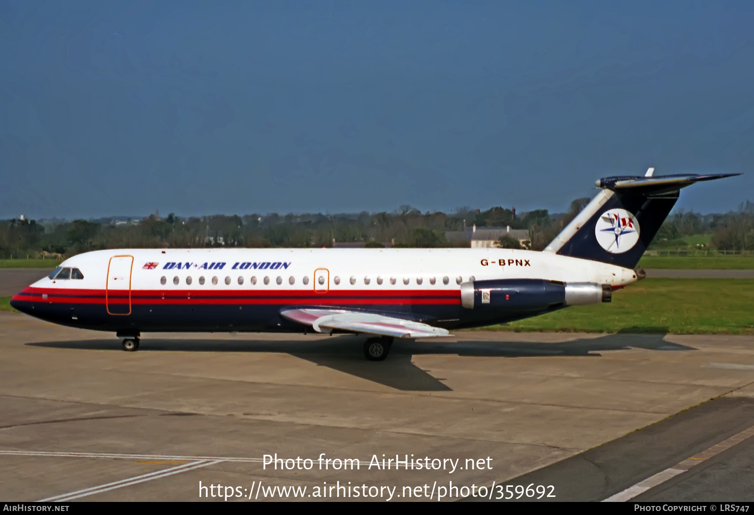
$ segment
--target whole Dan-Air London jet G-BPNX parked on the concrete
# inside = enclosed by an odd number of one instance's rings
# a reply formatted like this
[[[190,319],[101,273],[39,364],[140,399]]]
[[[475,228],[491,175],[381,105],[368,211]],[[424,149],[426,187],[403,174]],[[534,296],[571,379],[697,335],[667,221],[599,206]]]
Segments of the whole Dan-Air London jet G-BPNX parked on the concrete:
[[[70,257],[11,299],[20,312],[115,332],[365,334],[370,361],[394,338],[448,336],[568,306],[606,303],[683,187],[740,174],[615,176],[544,251],[506,248],[116,249]]]

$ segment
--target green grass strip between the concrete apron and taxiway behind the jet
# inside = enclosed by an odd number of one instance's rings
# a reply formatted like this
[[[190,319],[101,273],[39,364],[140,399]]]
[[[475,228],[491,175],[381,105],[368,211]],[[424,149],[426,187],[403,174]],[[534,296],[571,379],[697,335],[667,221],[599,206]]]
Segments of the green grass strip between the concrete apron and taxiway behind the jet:
[[[9,297],[0,310],[11,311]],[[754,279],[645,279],[612,303],[574,306],[495,331],[754,334]]]

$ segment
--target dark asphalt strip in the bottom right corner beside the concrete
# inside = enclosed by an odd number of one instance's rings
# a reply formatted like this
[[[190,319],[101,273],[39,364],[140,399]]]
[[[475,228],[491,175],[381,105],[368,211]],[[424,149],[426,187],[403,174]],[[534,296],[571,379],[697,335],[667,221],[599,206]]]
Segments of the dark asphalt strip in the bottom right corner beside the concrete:
[[[747,434],[754,434],[752,427],[754,398],[724,395],[507,483],[562,486],[559,498],[544,501],[602,501],[684,459],[700,456],[734,434],[746,429]],[[700,456],[693,463],[684,474],[630,500],[751,501],[754,497],[754,438],[749,436],[710,459]]]

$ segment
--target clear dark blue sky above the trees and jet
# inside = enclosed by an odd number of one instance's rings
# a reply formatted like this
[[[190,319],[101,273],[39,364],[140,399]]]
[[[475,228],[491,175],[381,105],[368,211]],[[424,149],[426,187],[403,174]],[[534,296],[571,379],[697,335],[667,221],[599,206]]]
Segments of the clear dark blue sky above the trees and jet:
[[[743,172],[754,2],[0,0],[0,218],[565,212]]]

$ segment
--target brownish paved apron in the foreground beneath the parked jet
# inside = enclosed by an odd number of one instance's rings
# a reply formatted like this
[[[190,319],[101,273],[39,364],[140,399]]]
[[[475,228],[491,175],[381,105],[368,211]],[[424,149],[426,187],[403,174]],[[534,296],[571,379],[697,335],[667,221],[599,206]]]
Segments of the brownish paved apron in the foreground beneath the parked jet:
[[[531,477],[556,500],[600,500],[754,425],[754,337],[464,331],[397,341],[378,363],[362,342],[145,334],[130,353],[0,312],[0,498],[217,501],[201,481],[233,500],[274,486],[437,500],[464,493],[451,481]],[[265,468],[275,453],[313,462]],[[439,469],[375,467],[383,454]],[[320,455],[360,465],[320,470]],[[746,440],[642,495],[750,501],[751,464]]]

